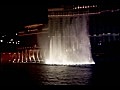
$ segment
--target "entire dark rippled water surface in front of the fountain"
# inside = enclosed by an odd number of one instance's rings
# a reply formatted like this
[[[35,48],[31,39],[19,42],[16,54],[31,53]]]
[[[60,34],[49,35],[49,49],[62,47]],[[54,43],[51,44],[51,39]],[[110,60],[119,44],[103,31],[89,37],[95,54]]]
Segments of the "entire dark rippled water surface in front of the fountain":
[[[8,64],[1,66],[0,81],[2,86],[119,85],[119,66],[111,65]]]

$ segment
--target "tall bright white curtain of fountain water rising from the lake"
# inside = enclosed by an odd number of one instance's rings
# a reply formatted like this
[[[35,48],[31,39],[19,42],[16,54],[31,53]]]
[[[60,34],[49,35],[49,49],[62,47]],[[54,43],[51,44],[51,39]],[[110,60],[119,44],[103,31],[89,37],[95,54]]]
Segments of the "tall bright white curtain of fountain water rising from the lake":
[[[49,17],[49,57],[46,64],[94,64],[88,15]]]

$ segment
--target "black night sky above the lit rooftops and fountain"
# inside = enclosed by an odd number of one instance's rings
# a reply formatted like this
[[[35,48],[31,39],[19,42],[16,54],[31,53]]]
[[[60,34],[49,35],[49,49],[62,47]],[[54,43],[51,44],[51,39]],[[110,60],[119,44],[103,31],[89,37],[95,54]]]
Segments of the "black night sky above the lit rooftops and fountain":
[[[101,8],[118,8],[118,0],[44,0],[35,2],[4,2],[1,6],[1,32],[16,32],[23,26],[35,23],[47,23],[47,8],[72,4],[98,4]],[[2,4],[2,3],[1,3]]]

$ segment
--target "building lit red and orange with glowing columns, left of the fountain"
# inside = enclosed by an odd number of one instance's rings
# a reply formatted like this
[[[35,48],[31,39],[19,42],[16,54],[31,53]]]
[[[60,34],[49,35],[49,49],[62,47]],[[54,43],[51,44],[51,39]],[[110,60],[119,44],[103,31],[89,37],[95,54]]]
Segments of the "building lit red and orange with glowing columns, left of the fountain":
[[[3,51],[1,54],[2,63],[41,62],[44,57],[41,55],[41,47],[38,45],[37,37],[46,33],[46,24],[25,26],[23,31],[15,34],[16,41],[14,41],[14,39],[10,39],[6,42],[9,45],[11,44],[12,46],[16,46],[13,52],[11,52],[11,50]],[[1,39],[0,41],[3,43],[4,40]]]

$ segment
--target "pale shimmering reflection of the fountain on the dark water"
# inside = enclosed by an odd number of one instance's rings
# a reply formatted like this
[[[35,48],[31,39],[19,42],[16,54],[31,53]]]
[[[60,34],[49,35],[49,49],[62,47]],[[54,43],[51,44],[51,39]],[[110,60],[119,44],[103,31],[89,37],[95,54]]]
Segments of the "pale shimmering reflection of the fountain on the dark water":
[[[47,65],[35,68],[31,76],[43,85],[87,85],[91,77],[91,68],[88,67]],[[37,78],[34,78],[35,75]]]

